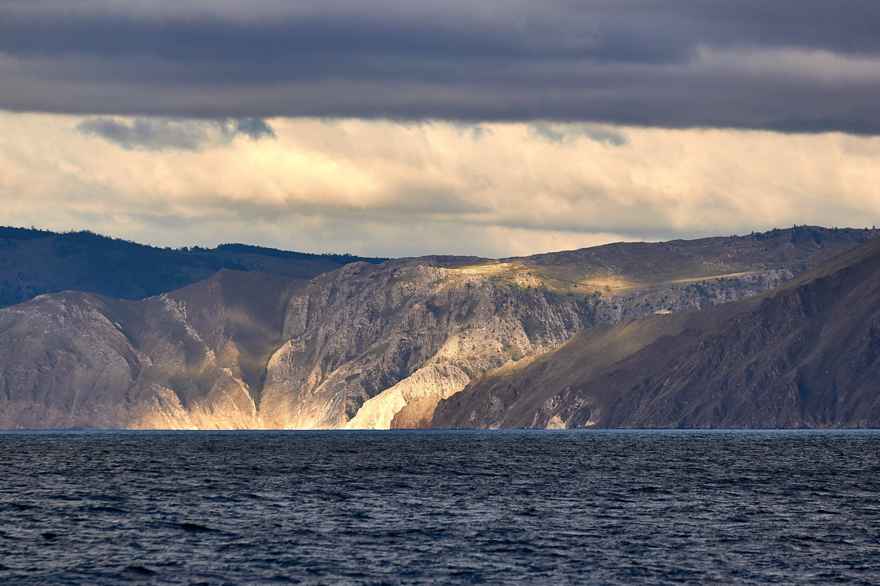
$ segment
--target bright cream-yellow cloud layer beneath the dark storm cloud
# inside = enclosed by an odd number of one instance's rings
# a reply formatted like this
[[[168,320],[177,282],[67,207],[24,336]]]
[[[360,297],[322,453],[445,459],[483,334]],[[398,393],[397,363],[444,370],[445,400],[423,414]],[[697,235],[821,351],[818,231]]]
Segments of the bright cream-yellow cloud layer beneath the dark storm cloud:
[[[273,140],[132,148],[77,130],[93,122],[0,112],[4,223],[153,245],[493,257],[880,224],[876,136],[277,118]]]

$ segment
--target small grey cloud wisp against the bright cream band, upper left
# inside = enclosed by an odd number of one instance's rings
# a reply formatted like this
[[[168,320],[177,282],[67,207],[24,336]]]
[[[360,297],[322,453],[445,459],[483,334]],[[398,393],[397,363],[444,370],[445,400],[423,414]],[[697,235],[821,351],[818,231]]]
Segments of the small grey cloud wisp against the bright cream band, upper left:
[[[92,118],[77,124],[84,135],[100,136],[128,150],[201,150],[230,143],[238,135],[252,140],[275,138],[275,130],[259,118],[224,121],[137,117],[133,120]]]

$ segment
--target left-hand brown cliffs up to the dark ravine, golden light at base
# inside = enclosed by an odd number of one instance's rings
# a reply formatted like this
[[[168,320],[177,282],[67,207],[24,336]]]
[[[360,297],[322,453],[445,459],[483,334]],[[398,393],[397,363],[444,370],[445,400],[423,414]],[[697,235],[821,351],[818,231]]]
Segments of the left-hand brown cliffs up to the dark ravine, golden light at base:
[[[6,308],[0,425],[254,427],[254,398],[291,283],[222,271],[143,301],[66,292]]]

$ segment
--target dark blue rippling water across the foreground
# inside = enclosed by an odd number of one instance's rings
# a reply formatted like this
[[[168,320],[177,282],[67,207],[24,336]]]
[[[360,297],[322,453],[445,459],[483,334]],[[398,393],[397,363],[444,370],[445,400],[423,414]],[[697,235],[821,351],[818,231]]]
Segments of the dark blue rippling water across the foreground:
[[[0,582],[877,584],[878,432],[5,432]]]

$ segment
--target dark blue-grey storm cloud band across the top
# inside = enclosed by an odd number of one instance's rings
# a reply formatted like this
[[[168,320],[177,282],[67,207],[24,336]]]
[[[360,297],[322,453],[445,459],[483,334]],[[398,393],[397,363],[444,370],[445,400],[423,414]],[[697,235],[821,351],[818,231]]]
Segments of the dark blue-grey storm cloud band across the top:
[[[880,133],[876,0],[0,0],[0,107]]]

